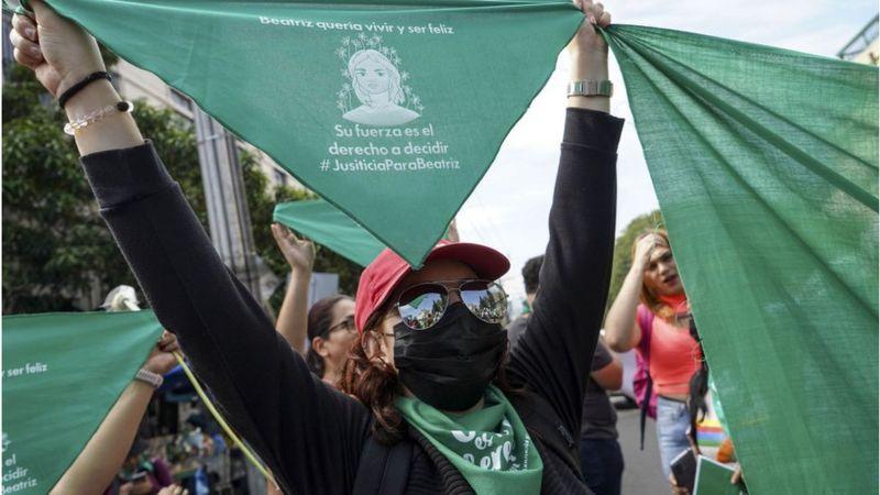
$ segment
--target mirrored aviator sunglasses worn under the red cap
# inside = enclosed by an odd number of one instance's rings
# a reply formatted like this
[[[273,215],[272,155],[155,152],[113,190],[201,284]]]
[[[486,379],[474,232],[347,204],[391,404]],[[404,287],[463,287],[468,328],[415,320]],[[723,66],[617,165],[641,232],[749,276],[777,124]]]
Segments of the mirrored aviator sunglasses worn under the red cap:
[[[490,280],[441,280],[414,285],[400,293],[397,311],[404,324],[427,330],[447,312],[450,293],[459,293],[462,304],[486,323],[501,323],[507,317],[507,294]]]

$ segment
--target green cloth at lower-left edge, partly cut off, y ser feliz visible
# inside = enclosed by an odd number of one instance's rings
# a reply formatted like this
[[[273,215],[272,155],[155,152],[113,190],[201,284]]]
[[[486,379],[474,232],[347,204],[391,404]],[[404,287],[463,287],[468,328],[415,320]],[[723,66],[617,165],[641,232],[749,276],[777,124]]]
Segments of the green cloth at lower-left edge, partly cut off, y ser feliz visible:
[[[3,317],[3,494],[45,494],[162,333],[152,311]]]

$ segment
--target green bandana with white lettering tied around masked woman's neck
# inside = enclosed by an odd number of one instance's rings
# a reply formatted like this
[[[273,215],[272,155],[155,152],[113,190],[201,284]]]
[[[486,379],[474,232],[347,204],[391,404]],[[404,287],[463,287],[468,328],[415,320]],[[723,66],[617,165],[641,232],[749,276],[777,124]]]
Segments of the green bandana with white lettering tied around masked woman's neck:
[[[543,462],[507,397],[490,385],[483,409],[447,415],[417,398],[397,397],[397,410],[479,494],[541,491]]]

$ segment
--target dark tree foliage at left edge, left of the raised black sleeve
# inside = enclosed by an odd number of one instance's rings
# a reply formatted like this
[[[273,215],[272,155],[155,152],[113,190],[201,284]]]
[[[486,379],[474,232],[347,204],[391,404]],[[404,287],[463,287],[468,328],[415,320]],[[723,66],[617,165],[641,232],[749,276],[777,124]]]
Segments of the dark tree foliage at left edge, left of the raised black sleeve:
[[[132,277],[97,215],[65,119],[21,67],[3,85],[3,312],[73,309]]]

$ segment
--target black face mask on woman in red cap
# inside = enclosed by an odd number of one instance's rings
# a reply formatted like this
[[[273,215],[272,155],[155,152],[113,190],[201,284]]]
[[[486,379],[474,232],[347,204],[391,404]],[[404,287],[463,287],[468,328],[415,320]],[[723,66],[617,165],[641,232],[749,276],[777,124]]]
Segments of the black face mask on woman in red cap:
[[[441,410],[476,404],[495,378],[507,349],[501,324],[476,318],[461,302],[427,330],[394,327],[394,365],[416,397]]]

